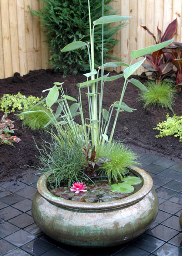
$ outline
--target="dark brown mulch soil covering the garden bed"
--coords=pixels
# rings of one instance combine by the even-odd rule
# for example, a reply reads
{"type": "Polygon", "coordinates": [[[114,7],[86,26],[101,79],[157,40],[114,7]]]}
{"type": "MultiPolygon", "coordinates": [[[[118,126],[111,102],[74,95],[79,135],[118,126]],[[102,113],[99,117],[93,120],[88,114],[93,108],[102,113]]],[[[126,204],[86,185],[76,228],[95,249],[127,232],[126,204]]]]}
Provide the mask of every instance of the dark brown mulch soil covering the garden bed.
{"type": "MultiPolygon", "coordinates": [[[[112,75],[112,73],[111,73],[112,75]]],[[[137,76],[133,76],[139,78],[137,76]]],[[[140,79],[140,78],[139,78],[140,79]]],[[[141,80],[141,79],[140,79],[141,80]]],[[[29,74],[20,77],[17,73],[13,77],[0,80],[0,97],[4,93],[17,94],[19,91],[29,96],[40,97],[45,96],[42,90],[53,86],[54,82],[65,82],[64,87],[67,89],[68,95],[77,98],[78,87],[77,83],[85,81],[83,75],[74,75],[62,77],[61,73],[56,73],[52,69],[30,71],[29,74]]],[[[103,107],[107,108],[114,102],[119,100],[120,92],[123,86],[123,78],[105,84],[105,93],[103,99],[103,107]]],[[[137,111],[133,113],[122,112],[119,115],[114,138],[121,140],[133,149],[138,149],[146,153],[165,157],[177,162],[182,162],[182,144],[178,138],[168,136],[163,138],[155,138],[158,131],[153,130],[157,123],[163,121],[167,112],[159,109],[147,109],[144,111],[142,105],[137,101],[139,89],[132,84],[129,84],[124,95],[123,101],[137,111]]],[[[83,91],[83,93],[86,91],[83,91]]],[[[182,95],[178,92],[174,112],[181,115],[182,95]]],[[[84,111],[87,109],[87,98],[83,97],[84,111]]],[[[0,112],[2,117],[3,112],[0,112]]],[[[36,166],[39,161],[35,158],[38,152],[33,146],[35,138],[38,145],[41,144],[41,135],[39,131],[31,131],[28,128],[22,129],[22,121],[17,119],[13,114],[8,115],[9,119],[15,121],[15,135],[21,138],[19,144],[14,144],[15,147],[0,145],[0,181],[14,180],[29,172],[32,172],[27,165],[36,166]]],[[[46,137],[42,135],[42,137],[46,137]]],[[[34,170],[36,173],[36,170],[34,170]]]]}

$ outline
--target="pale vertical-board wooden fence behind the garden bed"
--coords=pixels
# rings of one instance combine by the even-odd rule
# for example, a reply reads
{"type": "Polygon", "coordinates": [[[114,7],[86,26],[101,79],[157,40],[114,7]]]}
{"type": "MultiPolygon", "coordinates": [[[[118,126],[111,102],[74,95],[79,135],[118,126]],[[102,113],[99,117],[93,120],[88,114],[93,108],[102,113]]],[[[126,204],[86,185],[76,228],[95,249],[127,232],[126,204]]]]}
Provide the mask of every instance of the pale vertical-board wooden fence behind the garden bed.
{"type": "MultiPolygon", "coordinates": [[[[111,5],[118,14],[131,16],[129,25],[116,34],[119,44],[111,55],[129,62],[133,50],[154,44],[153,37],[141,26],[147,26],[157,36],[157,26],[163,33],[176,18],[175,41],[182,41],[181,0],[117,0],[111,5]]],[[[28,6],[39,10],[43,4],[38,0],[0,0],[0,78],[49,68],[45,35],[38,17],[31,16],[28,6]]],[[[137,73],[143,70],[141,67],[137,73]]]]}

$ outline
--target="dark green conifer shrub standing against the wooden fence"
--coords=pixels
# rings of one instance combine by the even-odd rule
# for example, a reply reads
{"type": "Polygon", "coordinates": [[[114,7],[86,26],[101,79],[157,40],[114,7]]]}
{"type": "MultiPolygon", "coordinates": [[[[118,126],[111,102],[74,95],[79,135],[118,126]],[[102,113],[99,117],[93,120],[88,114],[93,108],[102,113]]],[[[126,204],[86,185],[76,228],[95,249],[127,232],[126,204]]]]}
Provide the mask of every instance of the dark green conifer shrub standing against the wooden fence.
{"type": "MultiPolygon", "coordinates": [[[[104,0],[104,14],[115,14],[111,6],[113,0],[104,0]]],[[[39,16],[45,27],[44,33],[47,36],[47,43],[50,49],[50,64],[53,69],[66,73],[86,72],[90,69],[88,51],[86,47],[74,52],[61,52],[61,49],[73,41],[90,40],[88,0],[42,0],[45,8],[39,12],[30,10],[33,15],[39,16]]],[[[90,0],[92,22],[102,16],[102,1],[90,0]]],[[[126,25],[126,23],[123,23],[126,25]]],[[[113,35],[121,28],[104,25],[104,59],[109,58],[109,52],[117,43],[113,35]]],[[[95,65],[101,63],[102,26],[96,26],[94,33],[95,65]]]]}

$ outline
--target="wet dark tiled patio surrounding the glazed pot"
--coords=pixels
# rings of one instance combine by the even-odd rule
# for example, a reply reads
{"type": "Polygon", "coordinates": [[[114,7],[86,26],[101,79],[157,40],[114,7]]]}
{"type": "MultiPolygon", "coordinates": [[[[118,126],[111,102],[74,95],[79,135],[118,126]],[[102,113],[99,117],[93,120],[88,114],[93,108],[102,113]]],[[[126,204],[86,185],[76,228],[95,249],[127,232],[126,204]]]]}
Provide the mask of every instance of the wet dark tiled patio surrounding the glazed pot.
{"type": "Polygon", "coordinates": [[[137,152],[141,167],[153,177],[159,213],[142,236],[129,244],[86,249],[45,236],[31,215],[38,176],[0,183],[0,256],[182,256],[182,164],[137,152]]]}

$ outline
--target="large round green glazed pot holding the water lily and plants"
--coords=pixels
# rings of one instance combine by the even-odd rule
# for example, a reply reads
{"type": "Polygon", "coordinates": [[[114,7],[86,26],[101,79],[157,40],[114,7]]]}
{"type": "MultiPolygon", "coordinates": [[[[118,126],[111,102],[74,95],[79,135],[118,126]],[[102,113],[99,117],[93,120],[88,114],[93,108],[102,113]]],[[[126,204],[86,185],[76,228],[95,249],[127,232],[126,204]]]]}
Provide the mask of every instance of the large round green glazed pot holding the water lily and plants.
{"type": "Polygon", "coordinates": [[[85,203],[66,200],[49,192],[47,177],[37,182],[32,216],[49,237],[79,247],[106,247],[126,243],[140,236],[158,212],[158,198],[147,172],[132,167],[143,180],[135,194],[110,202],[85,203]]]}

